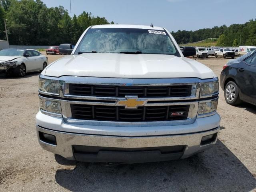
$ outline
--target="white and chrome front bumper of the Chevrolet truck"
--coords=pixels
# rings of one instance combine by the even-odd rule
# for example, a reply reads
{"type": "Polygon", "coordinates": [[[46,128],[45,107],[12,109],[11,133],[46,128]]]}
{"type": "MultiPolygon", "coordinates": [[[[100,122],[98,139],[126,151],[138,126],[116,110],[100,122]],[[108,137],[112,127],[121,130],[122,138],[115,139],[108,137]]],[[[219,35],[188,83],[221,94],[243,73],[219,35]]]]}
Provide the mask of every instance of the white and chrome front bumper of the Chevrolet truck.
{"type": "Polygon", "coordinates": [[[187,158],[213,146],[219,130],[218,114],[197,118],[193,124],[188,125],[151,127],[74,125],[41,112],[36,116],[36,131],[42,148],[69,160],[86,162],[136,163],[187,158]],[[41,140],[39,133],[54,135],[56,144],[41,140]],[[214,140],[202,145],[202,137],[212,134],[215,134],[214,140]],[[100,150],[97,153],[77,151],[74,146],[89,150],[99,147],[100,150]],[[179,150],[162,153],[157,149],[170,146],[179,150]]]}

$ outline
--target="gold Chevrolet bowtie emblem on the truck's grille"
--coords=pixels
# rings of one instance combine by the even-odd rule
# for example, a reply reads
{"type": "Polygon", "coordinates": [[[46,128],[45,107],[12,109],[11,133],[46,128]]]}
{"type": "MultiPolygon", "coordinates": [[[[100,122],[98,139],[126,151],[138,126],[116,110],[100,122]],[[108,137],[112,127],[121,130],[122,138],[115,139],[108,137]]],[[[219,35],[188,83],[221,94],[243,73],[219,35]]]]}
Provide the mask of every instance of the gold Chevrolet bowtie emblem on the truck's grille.
{"type": "Polygon", "coordinates": [[[125,106],[126,109],[136,109],[138,106],[144,106],[148,100],[138,99],[137,96],[125,96],[125,99],[119,99],[116,106],[125,106]]]}

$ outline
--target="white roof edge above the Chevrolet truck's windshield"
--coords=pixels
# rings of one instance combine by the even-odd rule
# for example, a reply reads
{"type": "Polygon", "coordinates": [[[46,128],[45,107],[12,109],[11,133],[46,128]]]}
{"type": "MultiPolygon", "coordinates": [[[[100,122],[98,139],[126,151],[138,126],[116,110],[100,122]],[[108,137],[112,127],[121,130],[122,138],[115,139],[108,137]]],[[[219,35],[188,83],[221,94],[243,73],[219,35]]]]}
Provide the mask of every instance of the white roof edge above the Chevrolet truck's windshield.
{"type": "Polygon", "coordinates": [[[164,30],[162,27],[150,27],[150,25],[123,25],[123,24],[110,24],[110,25],[94,25],[92,29],[97,28],[134,28],[134,29],[148,29],[148,30],[164,30]]]}

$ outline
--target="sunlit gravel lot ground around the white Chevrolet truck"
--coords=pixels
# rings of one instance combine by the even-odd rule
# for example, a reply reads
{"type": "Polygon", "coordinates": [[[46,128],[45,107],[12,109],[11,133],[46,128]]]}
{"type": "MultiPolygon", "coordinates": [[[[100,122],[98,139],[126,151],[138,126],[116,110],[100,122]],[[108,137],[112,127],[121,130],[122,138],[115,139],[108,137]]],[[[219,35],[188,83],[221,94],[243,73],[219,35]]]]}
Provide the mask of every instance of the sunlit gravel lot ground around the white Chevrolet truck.
{"type": "MultiPolygon", "coordinates": [[[[52,62],[59,55],[48,55],[52,62]]],[[[198,59],[219,76],[228,59],[198,59]]],[[[226,104],[217,144],[184,160],[145,164],[71,162],[42,150],[35,131],[38,75],[0,78],[0,192],[256,192],[256,107],[226,104]]]]}

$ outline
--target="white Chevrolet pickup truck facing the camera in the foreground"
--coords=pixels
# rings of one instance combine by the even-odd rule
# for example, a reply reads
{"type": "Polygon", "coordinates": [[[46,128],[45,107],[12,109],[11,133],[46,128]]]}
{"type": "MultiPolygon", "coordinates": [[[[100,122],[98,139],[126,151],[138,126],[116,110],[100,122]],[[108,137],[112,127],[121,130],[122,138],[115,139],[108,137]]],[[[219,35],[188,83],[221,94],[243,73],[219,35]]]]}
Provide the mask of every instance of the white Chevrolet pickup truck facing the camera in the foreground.
{"type": "Polygon", "coordinates": [[[90,26],[40,74],[40,145],[69,160],[121,163],[210,148],[220,130],[218,78],[185,57],[194,54],[162,27],[90,26]]]}

